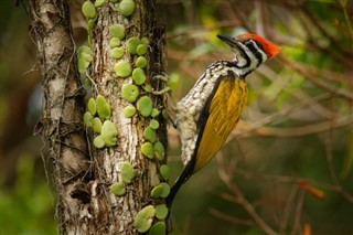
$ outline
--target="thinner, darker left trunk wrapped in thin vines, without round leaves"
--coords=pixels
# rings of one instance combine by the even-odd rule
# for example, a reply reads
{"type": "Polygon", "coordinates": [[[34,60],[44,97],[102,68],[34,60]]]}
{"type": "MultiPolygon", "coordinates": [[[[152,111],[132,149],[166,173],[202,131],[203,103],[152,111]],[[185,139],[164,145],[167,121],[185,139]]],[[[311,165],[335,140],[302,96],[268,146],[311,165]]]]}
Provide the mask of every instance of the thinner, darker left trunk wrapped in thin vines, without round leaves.
{"type": "Polygon", "coordinates": [[[42,133],[49,147],[45,161],[53,161],[56,216],[61,232],[67,234],[77,227],[83,205],[72,193],[77,184],[86,181],[89,167],[82,124],[84,90],[75,67],[75,44],[66,1],[33,0],[28,7],[30,34],[38,49],[45,99],[39,128],[43,125],[42,133]]]}

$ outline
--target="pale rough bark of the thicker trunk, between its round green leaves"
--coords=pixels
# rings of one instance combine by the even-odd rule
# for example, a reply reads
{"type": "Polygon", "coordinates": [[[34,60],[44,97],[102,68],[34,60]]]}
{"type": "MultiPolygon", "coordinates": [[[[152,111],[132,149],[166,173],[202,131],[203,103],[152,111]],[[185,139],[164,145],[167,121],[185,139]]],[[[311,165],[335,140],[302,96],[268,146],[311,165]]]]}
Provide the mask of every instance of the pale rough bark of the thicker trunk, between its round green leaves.
{"type": "MultiPolygon", "coordinates": [[[[94,46],[94,66],[92,79],[94,82],[94,96],[100,94],[108,100],[111,113],[113,122],[117,125],[119,130],[118,146],[115,148],[106,148],[104,150],[93,149],[93,158],[96,168],[95,184],[92,186],[92,204],[97,226],[101,233],[118,234],[136,234],[132,225],[133,217],[138,211],[151,203],[150,191],[160,180],[158,177],[158,165],[162,162],[149,160],[141,153],[141,145],[143,143],[143,129],[149,125],[150,118],[135,116],[126,118],[122,109],[129,105],[121,97],[121,87],[126,83],[132,83],[131,77],[119,78],[115,76],[114,65],[118,62],[110,55],[108,28],[114,23],[124,24],[127,29],[126,39],[138,36],[139,39],[147,36],[150,41],[150,49],[147,55],[147,83],[151,84],[156,89],[161,88],[161,83],[157,81],[152,83],[152,75],[163,71],[162,50],[163,26],[157,22],[153,1],[135,1],[136,10],[129,18],[124,18],[114,10],[114,4],[104,4],[98,8],[98,20],[92,32],[92,42],[94,46]],[[117,197],[109,192],[108,185],[120,181],[119,168],[121,162],[130,162],[137,170],[137,177],[132,184],[127,185],[127,194],[117,197]],[[107,206],[107,209],[105,207],[107,206]],[[106,226],[101,226],[105,224],[106,226]]],[[[125,42],[122,42],[122,46],[125,42]]],[[[136,58],[136,56],[135,56],[136,58]]],[[[133,63],[133,56],[126,53],[121,58],[133,63]]],[[[142,92],[142,88],[140,89],[142,92]]],[[[162,98],[147,94],[153,98],[156,107],[162,106],[162,98]]],[[[165,125],[163,118],[159,118],[161,127],[159,128],[158,138],[167,146],[165,125]]],[[[153,202],[154,204],[157,203],[153,202]]]]}

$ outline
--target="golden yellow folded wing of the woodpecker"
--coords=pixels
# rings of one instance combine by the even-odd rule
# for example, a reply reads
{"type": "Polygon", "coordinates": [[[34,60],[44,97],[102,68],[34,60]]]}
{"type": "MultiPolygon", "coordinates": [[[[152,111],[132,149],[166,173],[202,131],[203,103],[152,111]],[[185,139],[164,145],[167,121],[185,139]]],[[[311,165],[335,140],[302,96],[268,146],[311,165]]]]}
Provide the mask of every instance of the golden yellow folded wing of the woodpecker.
{"type": "MultiPolygon", "coordinates": [[[[222,148],[238,122],[247,97],[246,83],[239,77],[222,77],[210,102],[208,118],[201,127],[193,173],[204,167],[222,148]]],[[[201,117],[202,118],[202,117],[201,117]]]]}

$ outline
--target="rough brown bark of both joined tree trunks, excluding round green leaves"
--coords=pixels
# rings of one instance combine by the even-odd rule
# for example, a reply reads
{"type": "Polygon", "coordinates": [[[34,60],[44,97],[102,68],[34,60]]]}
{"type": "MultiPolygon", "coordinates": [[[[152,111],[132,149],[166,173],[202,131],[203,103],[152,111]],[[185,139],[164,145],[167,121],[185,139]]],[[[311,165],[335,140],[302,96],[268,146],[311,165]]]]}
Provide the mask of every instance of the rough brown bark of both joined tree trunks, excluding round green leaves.
{"type": "Polygon", "coordinates": [[[135,3],[136,9],[129,17],[114,10],[116,6],[109,1],[96,8],[96,23],[88,35],[93,51],[92,67],[87,72],[93,83],[92,94],[94,98],[97,95],[106,98],[111,108],[110,120],[119,131],[116,146],[98,149],[93,145],[97,133],[83,125],[85,93],[76,70],[67,1],[29,1],[30,32],[43,75],[45,107],[41,124],[50,149],[45,158],[53,159],[56,216],[63,234],[138,234],[133,226],[136,214],[148,204],[164,202],[161,197],[152,200],[150,192],[163,181],[158,169],[167,159],[148,159],[141,153],[142,143],[148,141],[143,130],[151,119],[160,124],[156,141],[167,146],[167,128],[161,115],[163,97],[143,90],[145,85],[151,85],[154,90],[163,88],[152,75],[163,72],[164,29],[157,20],[153,1],[136,0],[135,3]],[[118,61],[132,64],[137,56],[125,50],[122,58],[111,57],[109,26],[115,23],[126,28],[122,46],[132,35],[150,41],[146,54],[147,81],[138,87],[140,96],[149,96],[160,111],[154,118],[139,113],[132,118],[124,115],[126,106],[136,106],[121,95],[122,85],[131,84],[132,78],[116,77],[114,65],[118,61]],[[136,177],[131,183],[124,184],[126,194],[117,196],[109,186],[121,182],[122,162],[133,165],[136,177]]]}

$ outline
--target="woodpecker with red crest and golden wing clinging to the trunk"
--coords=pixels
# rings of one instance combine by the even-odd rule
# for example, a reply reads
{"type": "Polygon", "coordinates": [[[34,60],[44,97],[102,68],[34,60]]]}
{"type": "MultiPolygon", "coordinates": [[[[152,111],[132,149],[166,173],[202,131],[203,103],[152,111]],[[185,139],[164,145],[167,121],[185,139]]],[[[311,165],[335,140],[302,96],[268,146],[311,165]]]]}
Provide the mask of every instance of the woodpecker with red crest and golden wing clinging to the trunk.
{"type": "Polygon", "coordinates": [[[253,33],[217,38],[229,45],[235,57],[211,64],[176,104],[174,125],[180,131],[185,168],[167,199],[169,207],[181,185],[220,151],[237,125],[247,99],[245,77],[280,50],[253,33]]]}

